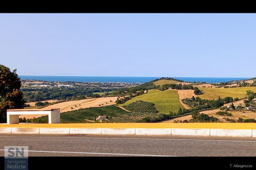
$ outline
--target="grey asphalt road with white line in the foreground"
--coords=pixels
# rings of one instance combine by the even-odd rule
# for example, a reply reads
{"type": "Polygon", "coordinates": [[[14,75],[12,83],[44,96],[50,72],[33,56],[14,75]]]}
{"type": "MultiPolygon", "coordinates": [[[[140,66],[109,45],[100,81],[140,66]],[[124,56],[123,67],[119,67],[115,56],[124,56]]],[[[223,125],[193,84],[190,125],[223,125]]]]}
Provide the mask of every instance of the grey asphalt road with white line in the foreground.
{"type": "Polygon", "coordinates": [[[256,156],[256,138],[1,134],[4,146],[29,156],[256,156]]]}

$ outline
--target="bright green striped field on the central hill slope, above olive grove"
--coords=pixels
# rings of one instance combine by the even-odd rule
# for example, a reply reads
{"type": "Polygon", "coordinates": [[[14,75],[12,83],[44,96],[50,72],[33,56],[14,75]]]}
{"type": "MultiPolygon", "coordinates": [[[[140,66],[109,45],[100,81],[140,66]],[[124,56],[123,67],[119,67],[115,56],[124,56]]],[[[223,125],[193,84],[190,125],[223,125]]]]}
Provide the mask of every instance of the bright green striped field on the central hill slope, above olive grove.
{"type": "Polygon", "coordinates": [[[183,108],[179,102],[177,90],[149,90],[145,95],[134,97],[122,105],[129,105],[137,100],[154,103],[157,110],[162,114],[168,114],[170,111],[177,112],[179,108],[183,108]]]}

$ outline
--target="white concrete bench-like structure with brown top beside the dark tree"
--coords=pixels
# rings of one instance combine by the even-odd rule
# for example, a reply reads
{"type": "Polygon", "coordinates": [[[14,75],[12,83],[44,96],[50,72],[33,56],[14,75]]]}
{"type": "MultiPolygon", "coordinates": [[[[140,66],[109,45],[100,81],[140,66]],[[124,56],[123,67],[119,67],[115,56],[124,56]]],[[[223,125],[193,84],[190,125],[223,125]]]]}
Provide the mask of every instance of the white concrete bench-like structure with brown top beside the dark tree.
{"type": "Polygon", "coordinates": [[[19,115],[48,115],[49,124],[60,123],[60,109],[35,110],[35,109],[8,109],[7,124],[19,124],[19,115]]]}

